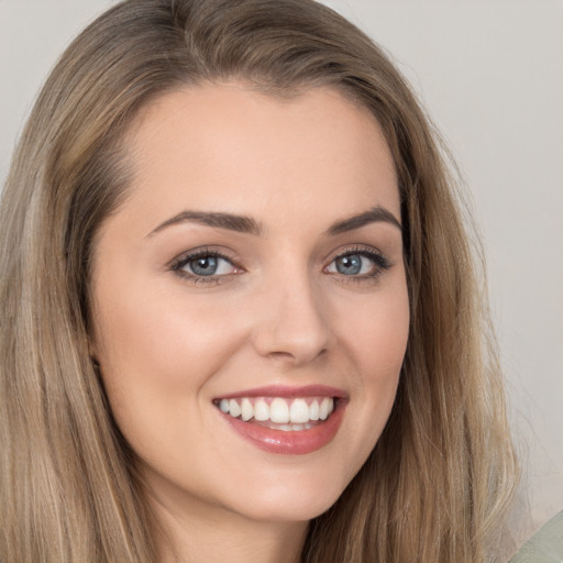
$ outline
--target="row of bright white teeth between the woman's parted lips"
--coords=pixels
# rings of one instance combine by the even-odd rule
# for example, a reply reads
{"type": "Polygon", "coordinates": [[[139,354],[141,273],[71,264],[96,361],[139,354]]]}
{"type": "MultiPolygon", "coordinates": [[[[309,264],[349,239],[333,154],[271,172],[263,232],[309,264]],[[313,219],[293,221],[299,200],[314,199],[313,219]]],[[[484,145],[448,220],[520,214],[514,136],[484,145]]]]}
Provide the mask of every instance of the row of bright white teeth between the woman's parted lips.
{"type": "Polygon", "coordinates": [[[213,404],[233,419],[272,430],[310,430],[334,411],[335,397],[236,397],[216,399],[213,404]]]}

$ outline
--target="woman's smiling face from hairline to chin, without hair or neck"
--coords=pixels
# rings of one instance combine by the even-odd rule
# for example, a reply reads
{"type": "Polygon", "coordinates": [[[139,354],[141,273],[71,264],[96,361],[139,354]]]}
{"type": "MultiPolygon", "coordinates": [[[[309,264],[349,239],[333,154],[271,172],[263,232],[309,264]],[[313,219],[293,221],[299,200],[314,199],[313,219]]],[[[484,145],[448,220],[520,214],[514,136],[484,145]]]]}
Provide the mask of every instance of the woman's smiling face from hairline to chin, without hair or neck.
{"type": "Polygon", "coordinates": [[[391,409],[409,306],[391,157],[331,89],[168,93],[130,135],[102,224],[92,354],[151,495],[305,521],[391,409]]]}

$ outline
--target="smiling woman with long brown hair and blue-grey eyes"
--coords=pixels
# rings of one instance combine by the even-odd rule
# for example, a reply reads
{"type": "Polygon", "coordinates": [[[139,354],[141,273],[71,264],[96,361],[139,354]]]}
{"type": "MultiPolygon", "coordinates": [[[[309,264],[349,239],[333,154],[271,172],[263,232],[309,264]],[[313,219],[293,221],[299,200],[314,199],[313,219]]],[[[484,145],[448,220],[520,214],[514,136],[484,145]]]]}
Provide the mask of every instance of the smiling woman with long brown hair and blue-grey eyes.
{"type": "Polygon", "coordinates": [[[2,196],[0,559],[498,559],[515,461],[451,184],[327,8],[99,18],[2,196]]]}

